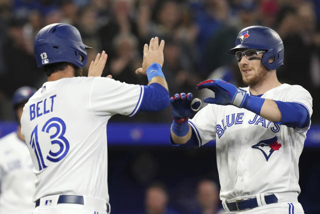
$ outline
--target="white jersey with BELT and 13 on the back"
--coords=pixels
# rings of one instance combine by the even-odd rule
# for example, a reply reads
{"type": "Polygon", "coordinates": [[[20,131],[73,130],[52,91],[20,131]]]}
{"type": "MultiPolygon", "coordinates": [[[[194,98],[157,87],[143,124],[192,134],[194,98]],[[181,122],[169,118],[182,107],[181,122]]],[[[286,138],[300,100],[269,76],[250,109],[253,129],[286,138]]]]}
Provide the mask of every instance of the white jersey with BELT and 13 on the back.
{"type": "Polygon", "coordinates": [[[133,116],[143,87],[102,77],[46,82],[25,104],[21,133],[34,163],[33,201],[55,194],[109,200],[106,124],[133,116]]]}

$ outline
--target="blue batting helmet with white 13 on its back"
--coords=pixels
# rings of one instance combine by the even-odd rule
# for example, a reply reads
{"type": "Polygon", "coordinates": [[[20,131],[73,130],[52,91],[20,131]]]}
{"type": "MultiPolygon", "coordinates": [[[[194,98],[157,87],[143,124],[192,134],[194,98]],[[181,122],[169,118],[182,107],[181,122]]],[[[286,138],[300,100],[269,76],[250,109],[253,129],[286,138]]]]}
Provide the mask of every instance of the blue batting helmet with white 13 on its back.
{"type": "Polygon", "coordinates": [[[86,48],[79,31],[72,25],[55,23],[42,28],[34,40],[38,67],[57,62],[69,62],[83,68],[87,62],[86,48]]]}

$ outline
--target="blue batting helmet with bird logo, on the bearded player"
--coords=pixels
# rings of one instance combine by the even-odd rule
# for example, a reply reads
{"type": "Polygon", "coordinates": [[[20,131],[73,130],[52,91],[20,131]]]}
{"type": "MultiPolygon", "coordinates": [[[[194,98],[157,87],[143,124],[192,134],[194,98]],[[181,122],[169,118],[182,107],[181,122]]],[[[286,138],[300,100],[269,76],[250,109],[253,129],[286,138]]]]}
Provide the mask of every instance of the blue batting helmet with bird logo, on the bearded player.
{"type": "Polygon", "coordinates": [[[251,26],[242,29],[236,39],[235,47],[228,54],[235,54],[239,49],[265,50],[261,63],[268,69],[274,70],[283,65],[284,47],[280,36],[270,28],[263,26],[251,26]],[[269,59],[274,61],[269,63],[269,59]]]}

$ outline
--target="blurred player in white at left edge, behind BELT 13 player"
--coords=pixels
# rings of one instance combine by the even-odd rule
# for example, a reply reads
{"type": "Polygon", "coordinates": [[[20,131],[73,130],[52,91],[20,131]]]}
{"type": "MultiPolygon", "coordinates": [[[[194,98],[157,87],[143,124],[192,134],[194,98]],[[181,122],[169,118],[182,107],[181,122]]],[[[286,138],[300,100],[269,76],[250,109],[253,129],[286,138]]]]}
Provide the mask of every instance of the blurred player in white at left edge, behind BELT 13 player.
{"type": "Polygon", "coordinates": [[[18,121],[17,130],[0,139],[0,214],[29,214],[34,209],[33,163],[19,121],[24,104],[35,91],[23,86],[14,92],[12,103],[18,121]]]}

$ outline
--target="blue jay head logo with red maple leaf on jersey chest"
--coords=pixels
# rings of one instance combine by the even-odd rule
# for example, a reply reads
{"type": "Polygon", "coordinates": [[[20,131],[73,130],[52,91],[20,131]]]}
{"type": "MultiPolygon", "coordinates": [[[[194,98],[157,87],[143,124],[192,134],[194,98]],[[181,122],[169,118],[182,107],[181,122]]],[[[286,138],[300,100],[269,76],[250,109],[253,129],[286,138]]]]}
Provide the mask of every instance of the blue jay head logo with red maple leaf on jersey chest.
{"type": "Polygon", "coordinates": [[[268,161],[271,154],[274,151],[279,150],[281,146],[282,146],[281,143],[277,142],[277,136],[274,136],[270,139],[259,141],[257,144],[254,144],[253,146],[251,146],[251,148],[259,149],[264,155],[266,161],[268,161]]]}

